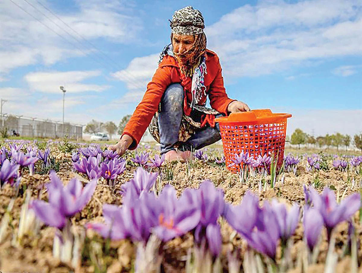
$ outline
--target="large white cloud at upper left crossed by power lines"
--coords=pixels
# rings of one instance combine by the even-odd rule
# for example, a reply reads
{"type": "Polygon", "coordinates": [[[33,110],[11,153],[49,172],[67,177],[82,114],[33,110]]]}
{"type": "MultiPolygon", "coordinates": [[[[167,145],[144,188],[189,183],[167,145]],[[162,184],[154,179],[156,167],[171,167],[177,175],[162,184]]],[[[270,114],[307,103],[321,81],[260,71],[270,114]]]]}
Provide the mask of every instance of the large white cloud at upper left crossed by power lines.
{"type": "MultiPolygon", "coordinates": [[[[40,22],[11,1],[1,1],[0,71],[2,72],[8,73],[21,66],[38,63],[51,65],[66,58],[92,55],[95,49],[82,37],[90,40],[103,38],[117,43],[130,43],[137,39],[142,29],[142,20],[133,15],[135,9],[127,7],[123,2],[79,1],[79,11],[71,15],[52,11],[82,37],[39,3],[30,3],[37,9],[25,1],[16,1],[17,5],[40,22]]],[[[51,2],[45,3],[48,8],[51,8],[51,4],[51,2]]]]}

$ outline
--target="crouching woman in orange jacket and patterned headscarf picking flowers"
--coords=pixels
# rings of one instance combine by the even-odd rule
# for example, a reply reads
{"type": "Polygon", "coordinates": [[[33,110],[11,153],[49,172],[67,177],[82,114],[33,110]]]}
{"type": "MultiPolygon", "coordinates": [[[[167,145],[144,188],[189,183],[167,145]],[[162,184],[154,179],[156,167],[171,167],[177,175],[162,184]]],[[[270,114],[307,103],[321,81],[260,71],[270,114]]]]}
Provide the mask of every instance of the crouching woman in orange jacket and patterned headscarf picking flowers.
{"type": "Polygon", "coordinates": [[[225,92],[219,58],[206,49],[201,12],[189,6],[174,12],[170,22],[171,44],[161,52],[159,67],[121,139],[110,146],[120,155],[135,149],[149,127],[165,159],[184,162],[191,149],[220,140],[215,117],[250,111],[225,92]],[[212,109],[205,107],[206,96],[212,109]]]}

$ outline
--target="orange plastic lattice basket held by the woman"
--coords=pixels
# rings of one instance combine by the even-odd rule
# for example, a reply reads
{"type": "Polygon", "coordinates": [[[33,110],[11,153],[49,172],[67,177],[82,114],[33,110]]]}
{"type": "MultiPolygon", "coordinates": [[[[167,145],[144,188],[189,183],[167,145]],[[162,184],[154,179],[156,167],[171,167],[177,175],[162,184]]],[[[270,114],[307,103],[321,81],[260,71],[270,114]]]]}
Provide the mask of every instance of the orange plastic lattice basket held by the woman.
{"type": "Polygon", "coordinates": [[[278,155],[277,167],[283,164],[287,118],[286,113],[272,113],[270,109],[231,113],[215,119],[220,126],[224,156],[228,170],[236,173],[239,166],[230,166],[235,154],[249,152],[254,159],[258,155],[278,155]]]}

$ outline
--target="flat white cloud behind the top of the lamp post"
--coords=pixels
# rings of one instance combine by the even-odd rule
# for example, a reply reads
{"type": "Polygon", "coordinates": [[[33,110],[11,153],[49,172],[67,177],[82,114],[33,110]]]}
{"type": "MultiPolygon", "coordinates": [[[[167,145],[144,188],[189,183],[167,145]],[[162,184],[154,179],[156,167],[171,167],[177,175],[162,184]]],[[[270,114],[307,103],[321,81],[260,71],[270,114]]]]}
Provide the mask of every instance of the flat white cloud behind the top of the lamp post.
{"type": "Polygon", "coordinates": [[[104,91],[109,86],[80,83],[82,80],[101,75],[101,71],[34,72],[24,76],[31,90],[60,93],[59,86],[67,92],[104,91]]]}

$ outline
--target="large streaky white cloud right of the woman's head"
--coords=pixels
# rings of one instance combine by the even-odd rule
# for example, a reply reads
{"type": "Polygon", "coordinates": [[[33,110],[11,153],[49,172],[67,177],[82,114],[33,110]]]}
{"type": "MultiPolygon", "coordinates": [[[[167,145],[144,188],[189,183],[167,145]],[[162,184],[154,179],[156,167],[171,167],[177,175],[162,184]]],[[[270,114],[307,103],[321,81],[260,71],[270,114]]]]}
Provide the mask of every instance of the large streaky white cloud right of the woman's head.
{"type": "Polygon", "coordinates": [[[264,1],[207,26],[208,47],[226,76],[258,76],[333,57],[361,55],[361,7],[355,1],[264,1]]]}

